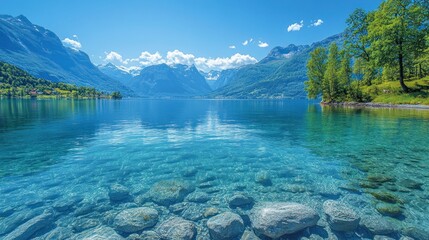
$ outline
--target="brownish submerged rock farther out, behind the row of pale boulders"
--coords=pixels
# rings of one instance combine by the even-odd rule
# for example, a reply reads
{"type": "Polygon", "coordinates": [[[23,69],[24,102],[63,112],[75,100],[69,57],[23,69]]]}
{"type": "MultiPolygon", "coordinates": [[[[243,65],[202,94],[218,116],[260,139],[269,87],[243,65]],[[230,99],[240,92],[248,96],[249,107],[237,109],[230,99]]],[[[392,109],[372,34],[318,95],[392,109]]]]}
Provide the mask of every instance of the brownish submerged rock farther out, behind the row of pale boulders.
{"type": "Polygon", "coordinates": [[[155,203],[168,206],[183,201],[194,189],[185,181],[165,180],[155,183],[148,194],[155,203]]]}

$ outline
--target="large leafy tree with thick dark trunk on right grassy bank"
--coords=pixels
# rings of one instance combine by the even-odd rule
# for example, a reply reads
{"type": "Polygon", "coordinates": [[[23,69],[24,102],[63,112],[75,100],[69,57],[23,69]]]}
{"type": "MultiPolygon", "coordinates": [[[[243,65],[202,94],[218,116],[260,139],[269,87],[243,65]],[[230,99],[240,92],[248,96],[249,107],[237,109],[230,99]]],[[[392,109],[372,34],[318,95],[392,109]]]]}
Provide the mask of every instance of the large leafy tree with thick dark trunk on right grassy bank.
{"type": "Polygon", "coordinates": [[[379,66],[397,67],[402,90],[405,85],[405,65],[412,62],[425,48],[427,29],[425,11],[412,0],[387,0],[375,11],[368,25],[371,57],[379,66]]]}

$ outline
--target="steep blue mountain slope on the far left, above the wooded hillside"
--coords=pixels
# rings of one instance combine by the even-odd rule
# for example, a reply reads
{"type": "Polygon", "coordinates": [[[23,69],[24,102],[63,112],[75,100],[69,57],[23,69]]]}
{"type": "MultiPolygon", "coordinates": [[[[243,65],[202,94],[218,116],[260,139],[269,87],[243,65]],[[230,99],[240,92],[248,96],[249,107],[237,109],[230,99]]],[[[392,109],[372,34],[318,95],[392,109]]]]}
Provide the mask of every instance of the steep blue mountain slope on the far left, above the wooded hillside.
{"type": "Polygon", "coordinates": [[[0,15],[0,43],[0,61],[35,77],[132,94],[123,84],[103,74],[86,53],[64,47],[55,33],[32,24],[22,15],[0,15]]]}

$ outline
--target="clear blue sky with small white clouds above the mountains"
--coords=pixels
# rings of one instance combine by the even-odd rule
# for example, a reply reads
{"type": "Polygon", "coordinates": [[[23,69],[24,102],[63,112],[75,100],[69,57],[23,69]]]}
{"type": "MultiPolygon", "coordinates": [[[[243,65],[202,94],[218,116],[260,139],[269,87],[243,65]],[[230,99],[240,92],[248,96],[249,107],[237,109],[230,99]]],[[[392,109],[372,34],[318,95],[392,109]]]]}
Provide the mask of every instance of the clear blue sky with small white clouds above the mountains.
{"type": "Polygon", "coordinates": [[[95,64],[196,63],[210,70],[260,60],[275,46],[320,41],[343,31],[355,8],[374,10],[381,2],[0,0],[0,13],[23,14],[68,38],[66,45],[85,51],[95,64]]]}

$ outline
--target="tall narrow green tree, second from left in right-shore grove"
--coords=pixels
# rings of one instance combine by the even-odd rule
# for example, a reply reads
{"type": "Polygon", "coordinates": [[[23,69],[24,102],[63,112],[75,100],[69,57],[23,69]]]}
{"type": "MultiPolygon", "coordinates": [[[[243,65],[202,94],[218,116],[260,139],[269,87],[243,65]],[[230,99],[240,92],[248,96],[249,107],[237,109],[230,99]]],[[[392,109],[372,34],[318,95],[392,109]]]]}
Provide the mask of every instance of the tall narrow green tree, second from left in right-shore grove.
{"type": "Polygon", "coordinates": [[[322,82],[322,100],[324,102],[333,102],[339,100],[339,72],[341,65],[338,45],[332,43],[329,46],[328,62],[322,82]]]}

